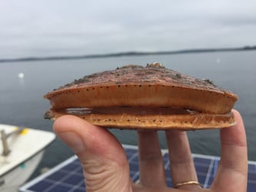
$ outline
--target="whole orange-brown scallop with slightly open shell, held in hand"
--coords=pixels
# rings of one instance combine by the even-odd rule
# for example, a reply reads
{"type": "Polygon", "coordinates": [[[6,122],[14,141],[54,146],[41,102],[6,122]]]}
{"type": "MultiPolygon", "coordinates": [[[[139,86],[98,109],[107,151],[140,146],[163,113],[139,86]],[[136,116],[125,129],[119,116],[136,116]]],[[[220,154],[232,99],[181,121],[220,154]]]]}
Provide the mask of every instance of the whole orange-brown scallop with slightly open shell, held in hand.
{"type": "Polygon", "coordinates": [[[230,127],[238,96],[165,68],[125,65],[87,75],[44,96],[45,118],[73,114],[91,124],[119,129],[198,130],[230,127]]]}

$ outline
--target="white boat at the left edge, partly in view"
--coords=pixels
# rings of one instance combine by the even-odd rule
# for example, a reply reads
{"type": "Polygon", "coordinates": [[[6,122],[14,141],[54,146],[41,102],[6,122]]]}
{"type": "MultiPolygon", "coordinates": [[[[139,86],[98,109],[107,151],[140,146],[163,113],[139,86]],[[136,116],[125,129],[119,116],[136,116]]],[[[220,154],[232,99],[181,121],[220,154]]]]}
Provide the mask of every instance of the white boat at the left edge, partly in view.
{"type": "Polygon", "coordinates": [[[38,167],[55,134],[9,124],[0,124],[0,133],[0,191],[17,191],[38,167]]]}

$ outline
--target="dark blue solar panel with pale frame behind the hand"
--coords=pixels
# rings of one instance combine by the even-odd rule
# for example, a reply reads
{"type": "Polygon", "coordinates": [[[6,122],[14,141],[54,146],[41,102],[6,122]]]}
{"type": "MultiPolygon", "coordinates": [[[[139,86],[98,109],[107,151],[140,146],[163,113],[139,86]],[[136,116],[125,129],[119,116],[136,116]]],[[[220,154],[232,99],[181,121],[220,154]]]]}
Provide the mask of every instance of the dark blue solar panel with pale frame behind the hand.
{"type": "MultiPolygon", "coordinates": [[[[130,164],[130,175],[134,182],[139,180],[138,147],[123,145],[130,164]]],[[[171,184],[170,162],[168,151],[163,150],[163,161],[166,171],[166,179],[169,187],[171,184]]],[[[198,181],[202,187],[209,187],[216,174],[219,157],[193,154],[194,166],[198,174],[198,181]]],[[[248,162],[248,192],[256,189],[256,162],[248,162]]],[[[86,191],[84,176],[80,161],[76,156],[49,170],[47,173],[36,177],[20,187],[21,192],[81,192],[86,191]]]]}

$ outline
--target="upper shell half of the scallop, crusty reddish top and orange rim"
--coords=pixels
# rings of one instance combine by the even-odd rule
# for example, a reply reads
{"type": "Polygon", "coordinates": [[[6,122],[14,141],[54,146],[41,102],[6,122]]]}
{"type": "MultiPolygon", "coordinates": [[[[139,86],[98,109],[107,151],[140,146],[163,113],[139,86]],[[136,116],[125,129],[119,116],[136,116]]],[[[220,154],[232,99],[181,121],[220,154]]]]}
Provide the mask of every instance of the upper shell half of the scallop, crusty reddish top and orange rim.
{"type": "Polygon", "coordinates": [[[45,94],[52,109],[98,107],[172,107],[226,114],[238,97],[209,80],[154,63],[126,65],[85,76],[45,94]]]}

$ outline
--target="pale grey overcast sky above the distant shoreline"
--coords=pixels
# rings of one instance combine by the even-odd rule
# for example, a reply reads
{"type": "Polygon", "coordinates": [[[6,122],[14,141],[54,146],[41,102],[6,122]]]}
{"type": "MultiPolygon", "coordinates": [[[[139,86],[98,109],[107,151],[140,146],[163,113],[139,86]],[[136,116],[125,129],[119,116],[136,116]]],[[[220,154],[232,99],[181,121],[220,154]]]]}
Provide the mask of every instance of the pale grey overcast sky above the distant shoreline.
{"type": "Polygon", "coordinates": [[[256,45],[255,0],[0,0],[0,58],[256,45]]]}

